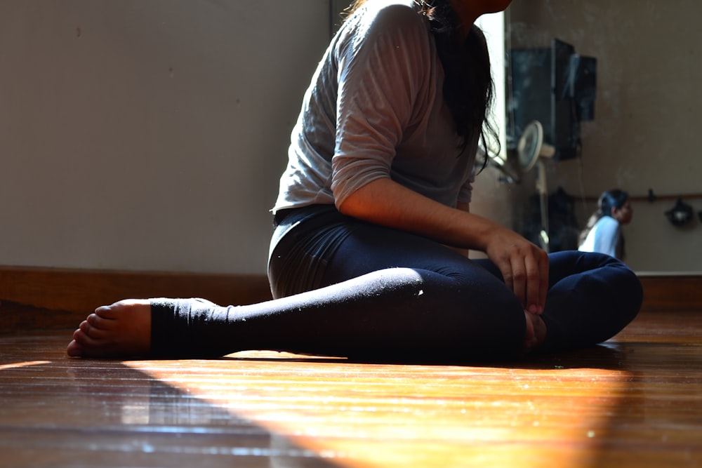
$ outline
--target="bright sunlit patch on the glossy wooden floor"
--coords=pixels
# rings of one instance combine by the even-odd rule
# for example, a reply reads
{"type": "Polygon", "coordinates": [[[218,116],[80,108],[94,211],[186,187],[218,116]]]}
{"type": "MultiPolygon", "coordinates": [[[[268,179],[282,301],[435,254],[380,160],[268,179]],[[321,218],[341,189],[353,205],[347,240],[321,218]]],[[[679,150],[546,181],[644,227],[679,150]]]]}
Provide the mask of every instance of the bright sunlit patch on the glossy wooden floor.
{"type": "Polygon", "coordinates": [[[126,364],[348,467],[592,466],[631,377],[590,368],[187,363],[126,364]]]}

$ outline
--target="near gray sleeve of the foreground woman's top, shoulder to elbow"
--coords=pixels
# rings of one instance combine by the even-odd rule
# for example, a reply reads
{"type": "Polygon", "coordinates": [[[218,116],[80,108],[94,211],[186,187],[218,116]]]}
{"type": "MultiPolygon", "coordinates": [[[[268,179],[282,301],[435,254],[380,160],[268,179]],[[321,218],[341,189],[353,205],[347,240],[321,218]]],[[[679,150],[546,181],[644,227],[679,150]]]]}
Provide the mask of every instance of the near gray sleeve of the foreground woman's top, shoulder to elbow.
{"type": "Polygon", "coordinates": [[[390,178],[392,162],[430,92],[432,50],[424,20],[401,5],[359,25],[338,48],[336,149],[331,189],[337,206],[372,180],[390,178]]]}

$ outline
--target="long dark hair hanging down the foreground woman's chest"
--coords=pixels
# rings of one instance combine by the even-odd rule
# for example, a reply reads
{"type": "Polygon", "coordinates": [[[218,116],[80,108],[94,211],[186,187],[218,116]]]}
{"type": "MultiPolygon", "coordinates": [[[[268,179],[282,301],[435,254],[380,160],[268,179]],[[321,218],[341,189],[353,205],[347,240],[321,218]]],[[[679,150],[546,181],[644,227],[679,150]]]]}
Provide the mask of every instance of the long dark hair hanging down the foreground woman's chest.
{"type": "MultiPolygon", "coordinates": [[[[355,0],[348,8],[349,13],[366,1],[355,0]]],[[[463,40],[461,21],[449,0],[417,0],[417,3],[419,13],[428,19],[435,37],[439,60],[444,67],[444,100],[456,122],[456,133],[461,136],[461,149],[477,136],[486,152],[499,153],[500,140],[488,119],[495,88],[483,32],[472,25],[463,40]]],[[[487,155],[483,167],[486,163],[487,155]]]]}

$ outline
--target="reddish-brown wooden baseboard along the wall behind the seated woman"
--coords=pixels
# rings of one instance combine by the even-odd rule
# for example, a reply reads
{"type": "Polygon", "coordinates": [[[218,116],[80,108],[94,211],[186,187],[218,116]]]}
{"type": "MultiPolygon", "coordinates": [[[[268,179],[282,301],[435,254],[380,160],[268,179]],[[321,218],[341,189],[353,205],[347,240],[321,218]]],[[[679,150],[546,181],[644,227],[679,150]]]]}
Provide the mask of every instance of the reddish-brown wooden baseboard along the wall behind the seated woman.
{"type": "MultiPolygon", "coordinates": [[[[642,309],[702,311],[702,275],[640,279],[642,309]]],[[[0,333],[76,326],[95,307],[140,297],[204,297],[244,305],[270,300],[271,294],[264,275],[0,267],[0,333]]]]}

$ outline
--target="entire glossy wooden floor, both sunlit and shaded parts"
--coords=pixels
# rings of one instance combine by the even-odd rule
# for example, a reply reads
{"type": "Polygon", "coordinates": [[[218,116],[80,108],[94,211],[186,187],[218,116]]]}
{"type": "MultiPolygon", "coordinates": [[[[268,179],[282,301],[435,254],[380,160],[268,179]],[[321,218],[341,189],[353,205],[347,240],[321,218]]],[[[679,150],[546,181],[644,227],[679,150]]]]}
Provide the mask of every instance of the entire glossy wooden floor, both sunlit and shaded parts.
{"type": "Polygon", "coordinates": [[[93,361],[0,335],[2,467],[698,467],[702,311],[507,366],[93,361]]]}

